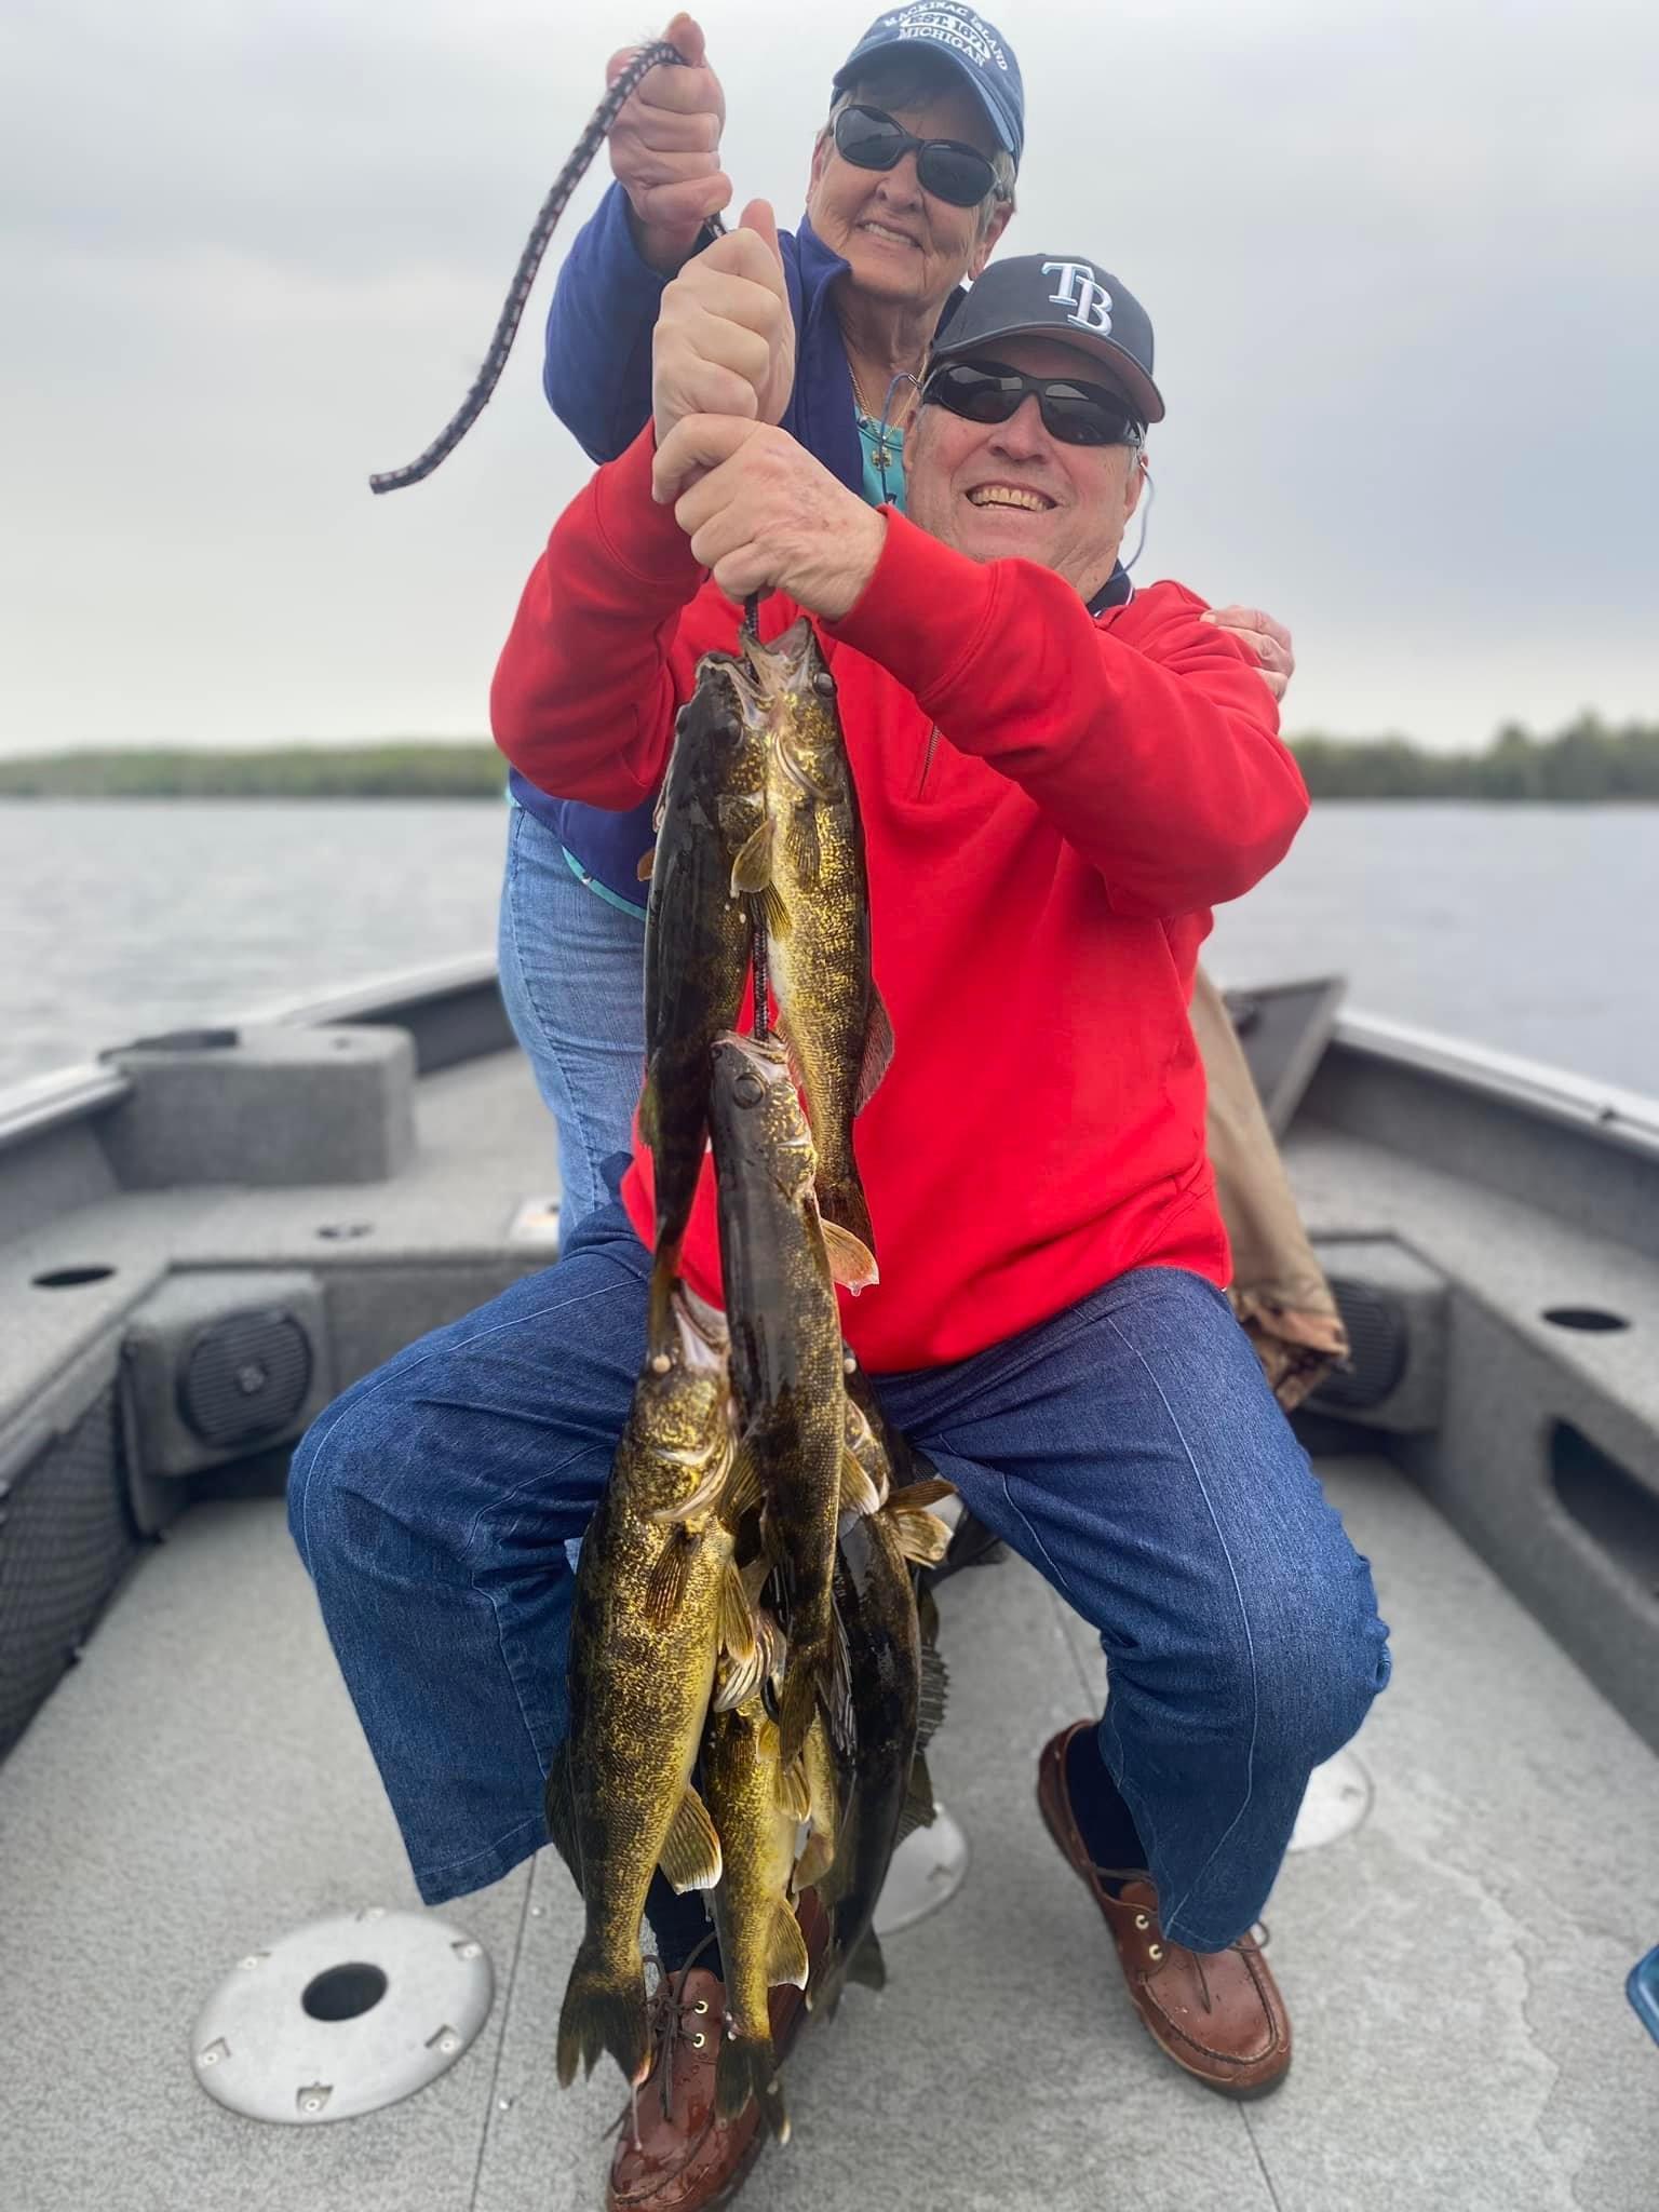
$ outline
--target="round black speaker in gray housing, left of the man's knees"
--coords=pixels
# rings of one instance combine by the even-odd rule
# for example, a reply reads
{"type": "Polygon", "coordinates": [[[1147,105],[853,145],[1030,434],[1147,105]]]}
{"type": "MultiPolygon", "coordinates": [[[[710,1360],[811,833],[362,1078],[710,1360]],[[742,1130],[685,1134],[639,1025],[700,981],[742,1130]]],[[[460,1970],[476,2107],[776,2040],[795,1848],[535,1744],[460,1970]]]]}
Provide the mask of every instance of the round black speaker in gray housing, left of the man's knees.
{"type": "Polygon", "coordinates": [[[157,1480],[288,1444],[330,1396],[327,1316],[314,1274],[173,1276],[133,1314],[122,1345],[139,1524],[157,1524],[155,1502],[144,1511],[157,1480]]]}

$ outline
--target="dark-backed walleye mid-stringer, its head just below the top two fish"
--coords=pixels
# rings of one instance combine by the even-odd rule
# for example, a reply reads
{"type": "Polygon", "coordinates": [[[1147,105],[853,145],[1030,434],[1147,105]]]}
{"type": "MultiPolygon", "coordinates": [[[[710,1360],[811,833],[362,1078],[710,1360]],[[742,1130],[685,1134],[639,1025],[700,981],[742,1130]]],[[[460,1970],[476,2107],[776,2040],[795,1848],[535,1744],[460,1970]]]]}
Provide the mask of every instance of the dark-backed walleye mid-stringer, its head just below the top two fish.
{"type": "Polygon", "coordinates": [[[765,1553],[785,1597],[779,1730],[783,1763],[794,1765],[814,1701],[832,1694],[838,1672],[836,1517],[843,1502],[867,1511],[878,1498],[845,1444],[841,1316],[812,1194],[816,1159],[783,1046],[721,1037],[708,1115],[741,1427],[732,1491],[759,1491],[765,1553]]]}

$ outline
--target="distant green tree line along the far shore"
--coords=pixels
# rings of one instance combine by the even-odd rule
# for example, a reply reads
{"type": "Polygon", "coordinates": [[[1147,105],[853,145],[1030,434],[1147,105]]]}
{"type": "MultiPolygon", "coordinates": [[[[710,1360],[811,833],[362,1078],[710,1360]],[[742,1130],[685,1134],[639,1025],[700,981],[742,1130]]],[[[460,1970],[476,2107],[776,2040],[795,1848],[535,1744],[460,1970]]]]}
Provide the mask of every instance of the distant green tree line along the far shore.
{"type": "MultiPolygon", "coordinates": [[[[1290,743],[1314,799],[1659,801],[1659,723],[1579,714],[1555,737],[1504,723],[1484,752],[1405,737],[1290,743]]],[[[504,779],[500,752],[471,739],[0,757],[0,799],[500,799],[504,779]]]]}

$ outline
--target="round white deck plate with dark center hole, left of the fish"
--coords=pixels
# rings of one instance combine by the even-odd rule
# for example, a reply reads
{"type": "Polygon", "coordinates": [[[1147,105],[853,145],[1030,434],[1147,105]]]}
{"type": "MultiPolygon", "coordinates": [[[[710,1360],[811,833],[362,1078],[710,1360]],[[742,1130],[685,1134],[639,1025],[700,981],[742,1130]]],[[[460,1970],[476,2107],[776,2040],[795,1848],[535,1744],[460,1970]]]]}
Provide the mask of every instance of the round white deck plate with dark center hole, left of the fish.
{"type": "Polygon", "coordinates": [[[445,1920],[378,1905],[312,1920],[250,1951],[208,1997],[195,2077],[248,2119],[376,2112],[447,2073],[493,1995],[489,1953],[445,1920]]]}

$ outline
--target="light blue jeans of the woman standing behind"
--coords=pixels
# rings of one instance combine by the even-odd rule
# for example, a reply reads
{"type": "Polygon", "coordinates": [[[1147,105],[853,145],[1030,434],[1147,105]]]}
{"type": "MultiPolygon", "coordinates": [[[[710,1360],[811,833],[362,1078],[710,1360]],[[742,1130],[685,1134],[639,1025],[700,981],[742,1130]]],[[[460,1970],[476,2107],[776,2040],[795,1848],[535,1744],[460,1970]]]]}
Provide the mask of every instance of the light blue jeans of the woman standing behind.
{"type": "Polygon", "coordinates": [[[513,801],[498,927],[502,1000],[560,1139],[562,1225],[604,1206],[646,1064],[646,922],[591,891],[513,801]]]}

